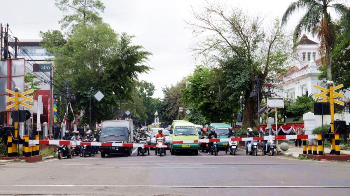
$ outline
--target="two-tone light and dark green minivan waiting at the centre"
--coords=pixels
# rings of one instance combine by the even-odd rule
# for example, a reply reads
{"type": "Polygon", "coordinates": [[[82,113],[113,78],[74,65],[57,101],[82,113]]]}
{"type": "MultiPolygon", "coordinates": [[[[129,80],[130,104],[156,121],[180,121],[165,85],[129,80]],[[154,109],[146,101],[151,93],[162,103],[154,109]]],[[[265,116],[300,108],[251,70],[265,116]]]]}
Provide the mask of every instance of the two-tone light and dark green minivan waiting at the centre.
{"type": "Polygon", "coordinates": [[[189,121],[174,120],[170,128],[170,153],[193,152],[198,155],[198,143],[173,143],[173,141],[194,141],[198,140],[198,130],[189,121]]]}

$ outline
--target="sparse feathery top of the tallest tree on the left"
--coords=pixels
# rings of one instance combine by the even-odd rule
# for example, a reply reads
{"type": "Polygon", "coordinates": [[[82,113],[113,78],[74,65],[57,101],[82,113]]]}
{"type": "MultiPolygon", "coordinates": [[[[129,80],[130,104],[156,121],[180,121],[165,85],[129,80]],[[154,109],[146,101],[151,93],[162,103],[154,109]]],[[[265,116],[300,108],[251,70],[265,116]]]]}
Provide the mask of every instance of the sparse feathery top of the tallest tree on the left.
{"type": "Polygon", "coordinates": [[[62,12],[73,11],[71,15],[64,15],[63,19],[59,21],[61,28],[64,29],[74,23],[94,24],[101,23],[102,18],[99,17],[99,12],[106,8],[99,0],[55,0],[55,6],[62,12]]]}

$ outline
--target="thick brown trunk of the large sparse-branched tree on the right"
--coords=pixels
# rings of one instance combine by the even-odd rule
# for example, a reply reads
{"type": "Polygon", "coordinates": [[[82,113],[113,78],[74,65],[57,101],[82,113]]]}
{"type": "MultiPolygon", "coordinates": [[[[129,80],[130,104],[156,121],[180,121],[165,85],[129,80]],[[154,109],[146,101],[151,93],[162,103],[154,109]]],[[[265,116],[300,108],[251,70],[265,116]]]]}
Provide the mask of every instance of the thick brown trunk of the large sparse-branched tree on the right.
{"type": "Polygon", "coordinates": [[[245,104],[242,116],[242,128],[253,128],[258,118],[258,97],[250,97],[250,91],[245,93],[245,104]]]}

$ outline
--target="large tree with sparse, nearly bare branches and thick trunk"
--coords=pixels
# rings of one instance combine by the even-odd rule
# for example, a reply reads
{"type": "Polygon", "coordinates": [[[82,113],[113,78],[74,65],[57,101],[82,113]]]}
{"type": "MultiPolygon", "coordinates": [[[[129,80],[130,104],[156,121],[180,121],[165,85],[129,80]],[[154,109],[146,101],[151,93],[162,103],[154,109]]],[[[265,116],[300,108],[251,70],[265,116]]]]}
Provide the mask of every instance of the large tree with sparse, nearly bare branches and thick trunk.
{"type": "MultiPolygon", "coordinates": [[[[236,82],[243,83],[246,88],[236,88],[240,92],[237,99],[244,104],[243,126],[255,125],[257,97],[250,97],[253,78],[258,76],[265,83],[285,71],[291,48],[289,38],[278,20],[272,27],[264,28],[261,16],[220,4],[207,5],[202,10],[193,9],[193,15],[196,21],[188,24],[198,38],[194,50],[205,57],[206,63],[220,66],[223,64],[220,62],[233,56],[244,61],[240,72],[246,75],[242,81],[236,82]]],[[[240,72],[236,71],[232,77],[240,77],[240,72]]]]}

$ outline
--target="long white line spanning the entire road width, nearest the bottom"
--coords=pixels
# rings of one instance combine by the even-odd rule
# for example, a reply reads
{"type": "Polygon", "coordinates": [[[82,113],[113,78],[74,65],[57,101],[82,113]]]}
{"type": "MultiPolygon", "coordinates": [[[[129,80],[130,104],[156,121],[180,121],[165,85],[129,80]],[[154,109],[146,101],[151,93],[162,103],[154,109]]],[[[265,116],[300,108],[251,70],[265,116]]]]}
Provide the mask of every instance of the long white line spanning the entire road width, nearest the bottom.
{"type": "Polygon", "coordinates": [[[0,184],[1,187],[168,187],[168,188],[350,188],[350,186],[176,186],[176,185],[75,185],[75,184],[0,184]]]}

